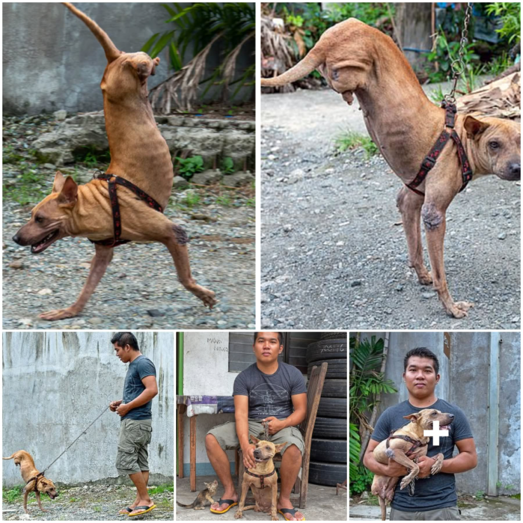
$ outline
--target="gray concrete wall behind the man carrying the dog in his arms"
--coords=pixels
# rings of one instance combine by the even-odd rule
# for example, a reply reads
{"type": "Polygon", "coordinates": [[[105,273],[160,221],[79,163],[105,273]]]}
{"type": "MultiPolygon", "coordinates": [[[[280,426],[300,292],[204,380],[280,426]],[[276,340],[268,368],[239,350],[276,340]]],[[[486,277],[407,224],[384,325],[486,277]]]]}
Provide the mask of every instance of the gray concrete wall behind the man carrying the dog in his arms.
{"type": "MultiPolygon", "coordinates": [[[[361,333],[362,339],[385,337],[384,332],[361,333]]],[[[458,405],[471,425],[478,456],[477,467],[456,474],[461,492],[486,492],[488,477],[488,391],[491,372],[499,372],[497,416],[498,494],[520,491],[521,437],[521,345],[520,333],[502,332],[497,368],[490,366],[491,333],[452,332],[448,354],[444,352],[442,332],[391,332],[385,378],[391,379],[399,392],[382,396],[379,414],[385,408],[405,401],[408,392],[402,379],[403,358],[414,347],[427,347],[438,357],[441,374],[436,396],[458,405]]],[[[457,454],[457,451],[455,452],[457,454]]]]}

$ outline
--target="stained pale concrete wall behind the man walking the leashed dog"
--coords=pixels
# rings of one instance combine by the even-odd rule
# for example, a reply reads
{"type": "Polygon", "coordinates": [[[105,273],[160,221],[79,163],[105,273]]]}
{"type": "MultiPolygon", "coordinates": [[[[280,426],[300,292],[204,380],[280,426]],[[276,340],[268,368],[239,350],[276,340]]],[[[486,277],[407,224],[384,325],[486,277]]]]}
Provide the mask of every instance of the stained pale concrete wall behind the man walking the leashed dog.
{"type": "MultiPolygon", "coordinates": [[[[111,332],[3,334],[2,452],[27,450],[39,469],[58,457],[113,400],[122,397],[128,365],[116,358],[111,332]]],[[[149,446],[150,483],[174,473],[174,335],[136,333],[156,367],[149,446]]],[[[59,484],[121,483],[115,468],[120,418],[109,410],[49,469],[59,484]]],[[[22,483],[3,461],[4,486],[22,483]]],[[[126,476],[127,481],[129,481],[126,476]]]]}

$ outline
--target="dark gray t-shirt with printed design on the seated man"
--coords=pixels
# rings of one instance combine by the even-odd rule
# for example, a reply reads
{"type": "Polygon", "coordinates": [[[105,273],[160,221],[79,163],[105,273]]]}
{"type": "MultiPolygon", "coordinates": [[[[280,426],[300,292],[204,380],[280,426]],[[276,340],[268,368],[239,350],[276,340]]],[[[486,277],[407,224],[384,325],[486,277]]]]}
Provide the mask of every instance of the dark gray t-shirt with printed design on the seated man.
{"type": "Polygon", "coordinates": [[[253,363],[236,376],[233,386],[233,396],[249,397],[249,419],[256,420],[289,417],[294,411],[291,396],[306,392],[303,374],[282,362],[274,374],[264,374],[253,363]]]}

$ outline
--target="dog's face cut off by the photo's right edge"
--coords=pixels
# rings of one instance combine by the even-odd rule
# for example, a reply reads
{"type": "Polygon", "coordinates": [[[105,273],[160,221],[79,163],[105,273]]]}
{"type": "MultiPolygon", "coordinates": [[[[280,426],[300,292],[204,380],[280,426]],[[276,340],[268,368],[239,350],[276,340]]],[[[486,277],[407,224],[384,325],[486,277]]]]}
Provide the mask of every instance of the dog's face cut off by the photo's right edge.
{"type": "Polygon", "coordinates": [[[521,179],[521,128],[512,120],[467,116],[463,123],[473,140],[474,157],[485,174],[504,180],[521,179]]]}

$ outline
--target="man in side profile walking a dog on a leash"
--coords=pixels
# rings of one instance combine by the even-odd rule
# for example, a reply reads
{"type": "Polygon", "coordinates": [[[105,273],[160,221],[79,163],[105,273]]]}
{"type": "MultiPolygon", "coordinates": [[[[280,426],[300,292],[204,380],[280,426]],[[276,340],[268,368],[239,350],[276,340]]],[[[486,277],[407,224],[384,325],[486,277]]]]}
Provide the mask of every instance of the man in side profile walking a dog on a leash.
{"type": "Polygon", "coordinates": [[[120,514],[140,516],[156,505],[147,492],[149,454],[152,434],[152,399],[158,394],[154,363],[140,352],[138,340],[130,332],[118,332],[111,338],[116,356],[129,363],[123,385],[123,400],[112,401],[109,408],[121,418],[116,468],[129,475],[137,489],[134,502],[120,514]]]}

